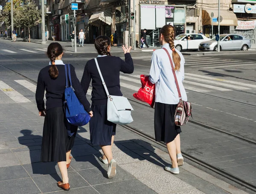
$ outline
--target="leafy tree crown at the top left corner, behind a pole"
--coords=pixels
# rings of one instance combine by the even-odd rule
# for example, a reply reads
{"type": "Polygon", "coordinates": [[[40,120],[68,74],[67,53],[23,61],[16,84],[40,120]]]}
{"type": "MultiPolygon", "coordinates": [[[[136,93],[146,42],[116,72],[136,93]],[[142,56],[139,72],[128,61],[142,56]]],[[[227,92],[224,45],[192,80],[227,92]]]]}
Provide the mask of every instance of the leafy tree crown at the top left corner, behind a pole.
{"type": "MultiPolygon", "coordinates": [[[[13,25],[19,26],[17,21],[18,13],[22,9],[22,0],[13,0],[13,25]]],[[[5,23],[6,26],[11,25],[11,2],[6,3],[3,8],[3,14],[0,16],[0,20],[5,23]]]]}

